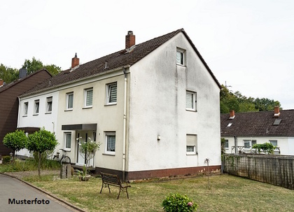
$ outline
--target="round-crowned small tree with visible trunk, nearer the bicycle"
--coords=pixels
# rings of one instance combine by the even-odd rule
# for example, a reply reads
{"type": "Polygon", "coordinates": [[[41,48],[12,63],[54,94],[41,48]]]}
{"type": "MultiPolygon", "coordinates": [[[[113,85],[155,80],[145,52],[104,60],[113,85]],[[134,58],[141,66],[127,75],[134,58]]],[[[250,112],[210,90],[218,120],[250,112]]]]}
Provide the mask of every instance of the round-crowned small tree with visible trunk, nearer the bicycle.
{"type": "Polygon", "coordinates": [[[38,153],[38,176],[41,176],[41,154],[47,150],[54,150],[57,144],[55,134],[45,130],[45,128],[29,135],[27,149],[38,153]]]}

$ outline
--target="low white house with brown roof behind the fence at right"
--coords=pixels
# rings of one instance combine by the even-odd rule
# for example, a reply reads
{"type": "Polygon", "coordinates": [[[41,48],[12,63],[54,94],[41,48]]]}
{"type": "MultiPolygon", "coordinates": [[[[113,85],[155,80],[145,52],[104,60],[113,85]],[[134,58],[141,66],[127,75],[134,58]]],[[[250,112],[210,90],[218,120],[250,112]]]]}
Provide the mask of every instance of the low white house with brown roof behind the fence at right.
{"type": "Polygon", "coordinates": [[[252,153],[255,143],[272,143],[274,154],[294,155],[294,110],[221,114],[226,153],[252,153]]]}

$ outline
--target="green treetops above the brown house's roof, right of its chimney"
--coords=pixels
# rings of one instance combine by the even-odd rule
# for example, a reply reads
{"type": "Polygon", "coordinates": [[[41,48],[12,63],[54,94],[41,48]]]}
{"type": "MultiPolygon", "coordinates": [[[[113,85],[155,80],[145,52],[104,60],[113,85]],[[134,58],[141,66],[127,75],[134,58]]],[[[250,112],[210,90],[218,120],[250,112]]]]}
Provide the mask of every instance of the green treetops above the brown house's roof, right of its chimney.
{"type": "Polygon", "coordinates": [[[55,64],[43,65],[43,62],[39,59],[37,60],[35,57],[31,60],[25,59],[25,63],[22,65],[22,68],[27,69],[27,74],[34,73],[40,69],[47,69],[52,76],[57,75],[57,73],[61,71],[59,66],[56,66],[55,64]]]}

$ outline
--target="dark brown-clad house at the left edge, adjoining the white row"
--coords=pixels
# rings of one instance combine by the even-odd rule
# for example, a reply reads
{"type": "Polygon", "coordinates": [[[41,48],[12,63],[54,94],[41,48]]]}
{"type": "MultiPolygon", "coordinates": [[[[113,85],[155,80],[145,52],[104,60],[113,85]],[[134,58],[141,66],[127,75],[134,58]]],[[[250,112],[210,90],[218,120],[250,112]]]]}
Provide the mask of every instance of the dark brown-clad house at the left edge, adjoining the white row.
{"type": "MultiPolygon", "coordinates": [[[[3,137],[9,132],[15,132],[18,124],[18,96],[31,89],[38,83],[51,78],[45,69],[27,76],[26,69],[20,69],[20,78],[5,85],[0,80],[0,155],[9,155],[11,149],[3,145],[3,137]]],[[[34,129],[27,129],[30,132],[34,129]]]]}

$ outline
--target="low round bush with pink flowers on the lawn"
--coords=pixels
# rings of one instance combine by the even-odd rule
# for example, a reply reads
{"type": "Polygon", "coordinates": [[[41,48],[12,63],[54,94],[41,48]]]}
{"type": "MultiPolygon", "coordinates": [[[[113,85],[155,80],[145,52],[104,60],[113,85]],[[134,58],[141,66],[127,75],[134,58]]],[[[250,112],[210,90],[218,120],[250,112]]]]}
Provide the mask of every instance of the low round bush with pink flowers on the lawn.
{"type": "Polygon", "coordinates": [[[176,211],[196,211],[197,204],[193,203],[193,200],[188,198],[187,195],[169,194],[162,201],[163,209],[167,212],[176,211]]]}

